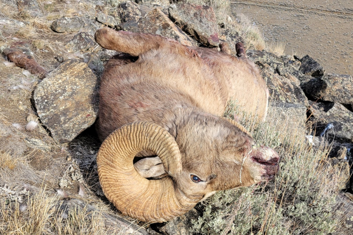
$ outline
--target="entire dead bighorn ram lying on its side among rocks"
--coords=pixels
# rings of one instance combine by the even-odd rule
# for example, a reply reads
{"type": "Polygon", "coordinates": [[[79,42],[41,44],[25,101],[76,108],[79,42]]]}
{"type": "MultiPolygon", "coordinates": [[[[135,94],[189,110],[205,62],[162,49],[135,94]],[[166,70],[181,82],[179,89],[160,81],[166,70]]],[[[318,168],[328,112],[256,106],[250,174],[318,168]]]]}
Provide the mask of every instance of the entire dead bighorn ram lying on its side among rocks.
{"type": "Polygon", "coordinates": [[[95,39],[125,53],[105,67],[97,123],[100,183],[123,214],[168,221],[216,191],[274,177],[278,154],[221,117],[231,97],[259,116],[267,111],[267,87],[241,44],[233,57],[108,28],[95,39]],[[133,165],[136,155],[158,157],[133,165]]]}

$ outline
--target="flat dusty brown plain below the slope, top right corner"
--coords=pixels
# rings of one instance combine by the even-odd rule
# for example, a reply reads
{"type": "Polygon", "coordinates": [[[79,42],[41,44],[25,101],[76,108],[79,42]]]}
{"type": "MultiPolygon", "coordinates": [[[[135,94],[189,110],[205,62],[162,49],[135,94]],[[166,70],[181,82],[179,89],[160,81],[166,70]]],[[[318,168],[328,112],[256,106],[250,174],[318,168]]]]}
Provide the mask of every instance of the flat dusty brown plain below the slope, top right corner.
{"type": "Polygon", "coordinates": [[[327,72],[353,74],[351,0],[240,0],[232,11],[249,17],[269,43],[283,40],[286,54],[309,54],[327,72]]]}

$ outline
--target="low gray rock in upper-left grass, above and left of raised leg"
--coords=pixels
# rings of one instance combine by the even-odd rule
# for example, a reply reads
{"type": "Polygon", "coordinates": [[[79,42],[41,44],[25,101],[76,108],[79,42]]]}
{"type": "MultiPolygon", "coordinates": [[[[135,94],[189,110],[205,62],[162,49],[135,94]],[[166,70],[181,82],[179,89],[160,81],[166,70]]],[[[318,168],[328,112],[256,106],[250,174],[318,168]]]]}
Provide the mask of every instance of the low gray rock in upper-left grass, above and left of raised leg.
{"type": "Polygon", "coordinates": [[[96,30],[98,27],[94,25],[90,19],[84,17],[60,18],[52,23],[52,30],[58,33],[62,32],[78,32],[80,29],[96,30]]]}

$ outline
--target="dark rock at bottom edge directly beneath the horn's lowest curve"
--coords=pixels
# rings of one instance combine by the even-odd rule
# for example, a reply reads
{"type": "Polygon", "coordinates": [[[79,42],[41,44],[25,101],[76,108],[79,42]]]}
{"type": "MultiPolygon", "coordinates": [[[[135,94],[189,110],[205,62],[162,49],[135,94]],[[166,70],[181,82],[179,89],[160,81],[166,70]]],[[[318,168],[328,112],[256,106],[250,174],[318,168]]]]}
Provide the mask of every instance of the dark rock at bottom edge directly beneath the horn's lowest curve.
{"type": "Polygon", "coordinates": [[[168,221],[167,223],[159,224],[157,227],[163,232],[163,234],[189,235],[191,234],[190,228],[193,225],[191,220],[197,220],[198,216],[197,211],[193,208],[185,215],[175,218],[172,221],[168,221]]]}

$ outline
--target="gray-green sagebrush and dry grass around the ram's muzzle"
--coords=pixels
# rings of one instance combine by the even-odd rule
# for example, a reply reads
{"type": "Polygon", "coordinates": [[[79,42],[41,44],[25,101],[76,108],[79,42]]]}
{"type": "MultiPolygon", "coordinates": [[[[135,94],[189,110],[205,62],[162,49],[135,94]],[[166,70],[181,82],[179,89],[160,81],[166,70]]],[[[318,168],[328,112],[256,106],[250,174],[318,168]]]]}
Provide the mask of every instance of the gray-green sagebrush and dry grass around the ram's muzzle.
{"type": "MultiPolygon", "coordinates": [[[[230,104],[228,117],[234,113],[234,103],[230,104]]],[[[242,120],[258,143],[279,153],[280,172],[275,181],[219,192],[203,202],[199,209],[204,212],[194,221],[193,232],[317,235],[336,231],[344,219],[342,211],[335,210],[336,197],[347,179],[340,167],[329,163],[330,146],[313,148],[297,133],[288,135],[286,121],[272,117],[271,111],[265,123],[254,117],[242,120]]],[[[302,129],[297,127],[298,132],[302,129]]]]}

